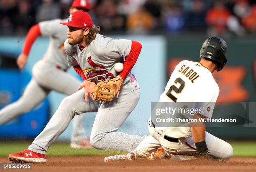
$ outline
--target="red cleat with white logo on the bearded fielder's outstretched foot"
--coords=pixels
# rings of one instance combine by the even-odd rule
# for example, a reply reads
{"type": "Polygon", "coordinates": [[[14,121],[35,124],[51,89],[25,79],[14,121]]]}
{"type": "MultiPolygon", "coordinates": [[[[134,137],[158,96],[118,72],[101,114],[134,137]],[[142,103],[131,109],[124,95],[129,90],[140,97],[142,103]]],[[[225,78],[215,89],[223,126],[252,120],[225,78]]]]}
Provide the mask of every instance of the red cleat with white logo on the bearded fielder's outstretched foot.
{"type": "Polygon", "coordinates": [[[31,150],[24,150],[20,153],[10,154],[8,157],[9,161],[13,163],[44,163],[46,162],[46,155],[33,152],[31,150]]]}

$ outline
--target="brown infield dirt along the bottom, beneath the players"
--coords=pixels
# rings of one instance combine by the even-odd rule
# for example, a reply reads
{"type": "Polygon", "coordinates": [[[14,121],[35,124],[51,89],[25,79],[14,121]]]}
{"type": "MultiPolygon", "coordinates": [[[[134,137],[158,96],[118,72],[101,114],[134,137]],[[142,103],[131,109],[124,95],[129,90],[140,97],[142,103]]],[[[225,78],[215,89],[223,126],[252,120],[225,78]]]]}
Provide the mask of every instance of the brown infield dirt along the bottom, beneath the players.
{"type": "MultiPolygon", "coordinates": [[[[33,164],[29,171],[35,172],[255,172],[256,158],[232,158],[228,162],[190,160],[184,162],[147,161],[116,162],[105,164],[104,157],[47,157],[45,164],[33,164]]],[[[10,163],[0,157],[0,163],[10,163]]],[[[0,170],[1,171],[1,170],[0,170]]],[[[3,171],[3,170],[2,170],[3,171]]],[[[17,171],[17,170],[12,170],[17,171]]]]}

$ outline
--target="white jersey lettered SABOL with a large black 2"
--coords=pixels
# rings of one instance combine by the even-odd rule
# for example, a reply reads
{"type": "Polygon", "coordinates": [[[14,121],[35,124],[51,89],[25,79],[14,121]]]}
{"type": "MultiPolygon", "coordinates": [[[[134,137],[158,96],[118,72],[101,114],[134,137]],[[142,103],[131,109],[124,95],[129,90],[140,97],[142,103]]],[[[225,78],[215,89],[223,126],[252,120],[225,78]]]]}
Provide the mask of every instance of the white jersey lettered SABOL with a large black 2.
{"type": "MultiPolygon", "coordinates": [[[[212,117],[219,87],[212,73],[200,62],[184,60],[172,72],[172,75],[160,96],[159,102],[205,102],[200,103],[205,117],[212,117]]],[[[174,138],[190,137],[190,125],[187,127],[157,127],[159,131],[174,138]]]]}

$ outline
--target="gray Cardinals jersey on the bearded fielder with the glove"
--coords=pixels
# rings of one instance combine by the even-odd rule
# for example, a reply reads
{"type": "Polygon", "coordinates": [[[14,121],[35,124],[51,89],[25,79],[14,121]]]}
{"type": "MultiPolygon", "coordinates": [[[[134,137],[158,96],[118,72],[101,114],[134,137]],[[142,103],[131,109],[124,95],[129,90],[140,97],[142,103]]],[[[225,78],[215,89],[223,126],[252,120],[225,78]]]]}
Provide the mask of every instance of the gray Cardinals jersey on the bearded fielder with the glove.
{"type": "Polygon", "coordinates": [[[80,66],[86,80],[99,82],[117,77],[114,65],[123,62],[131,50],[131,40],[115,40],[96,34],[95,40],[82,51],[78,45],[70,45],[65,41],[68,64],[80,66]]]}

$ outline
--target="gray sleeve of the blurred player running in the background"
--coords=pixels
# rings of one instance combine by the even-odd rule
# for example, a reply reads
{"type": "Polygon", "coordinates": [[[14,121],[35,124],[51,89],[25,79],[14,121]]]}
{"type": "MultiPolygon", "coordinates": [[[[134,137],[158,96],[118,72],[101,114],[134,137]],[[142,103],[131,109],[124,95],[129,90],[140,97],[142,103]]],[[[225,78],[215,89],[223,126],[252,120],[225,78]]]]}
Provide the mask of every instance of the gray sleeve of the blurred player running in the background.
{"type": "Polygon", "coordinates": [[[60,19],[39,22],[41,35],[51,36],[57,34],[61,28],[61,24],[59,22],[61,22],[60,19]]]}

